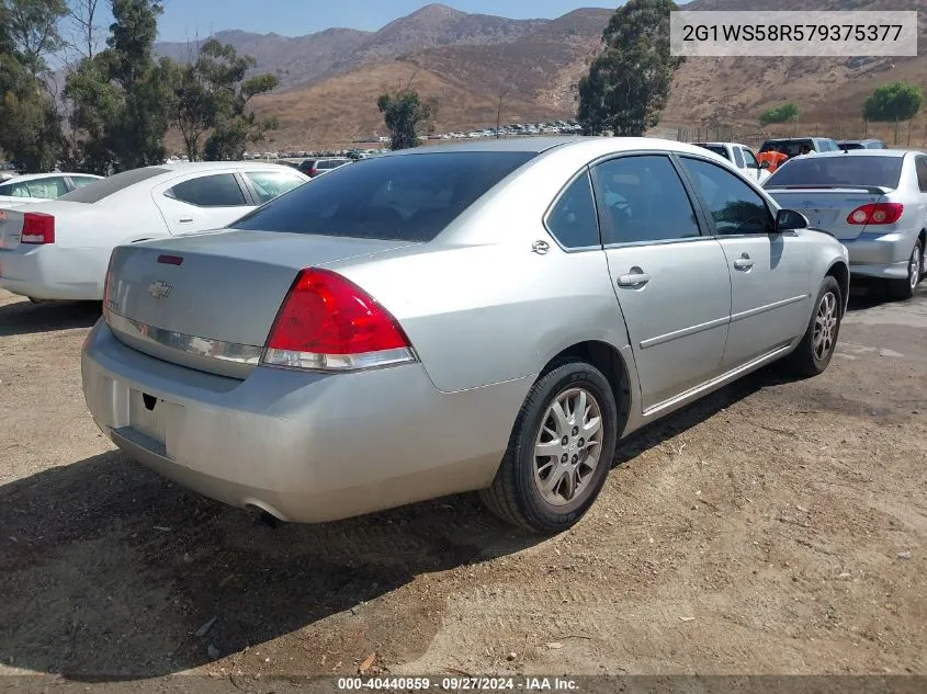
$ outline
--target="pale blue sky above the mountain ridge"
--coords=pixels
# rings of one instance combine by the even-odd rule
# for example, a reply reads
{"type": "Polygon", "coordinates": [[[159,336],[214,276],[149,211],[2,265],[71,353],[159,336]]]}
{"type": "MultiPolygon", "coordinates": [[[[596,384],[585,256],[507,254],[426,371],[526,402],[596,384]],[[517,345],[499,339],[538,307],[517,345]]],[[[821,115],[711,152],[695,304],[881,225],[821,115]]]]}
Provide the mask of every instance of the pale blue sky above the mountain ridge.
{"type": "MultiPolygon", "coordinates": [[[[302,36],[332,26],[375,31],[427,0],[166,0],[160,41],[186,41],[226,29],[302,36]]],[[[445,0],[463,12],[511,19],[553,19],[578,8],[614,9],[620,0],[445,0]]],[[[109,18],[104,20],[109,24],[109,18]]]]}

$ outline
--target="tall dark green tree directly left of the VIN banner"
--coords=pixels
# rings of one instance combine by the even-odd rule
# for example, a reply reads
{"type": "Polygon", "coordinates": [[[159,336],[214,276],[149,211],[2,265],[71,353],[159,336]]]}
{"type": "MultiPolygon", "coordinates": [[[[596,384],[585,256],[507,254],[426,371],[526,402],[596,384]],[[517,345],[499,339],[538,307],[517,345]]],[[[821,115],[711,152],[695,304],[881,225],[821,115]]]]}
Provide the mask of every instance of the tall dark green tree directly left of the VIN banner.
{"type": "Polygon", "coordinates": [[[629,0],[615,10],[602,49],[579,80],[585,134],[641,136],[659,123],[683,61],[669,49],[669,13],[677,9],[672,0],[629,0]]]}

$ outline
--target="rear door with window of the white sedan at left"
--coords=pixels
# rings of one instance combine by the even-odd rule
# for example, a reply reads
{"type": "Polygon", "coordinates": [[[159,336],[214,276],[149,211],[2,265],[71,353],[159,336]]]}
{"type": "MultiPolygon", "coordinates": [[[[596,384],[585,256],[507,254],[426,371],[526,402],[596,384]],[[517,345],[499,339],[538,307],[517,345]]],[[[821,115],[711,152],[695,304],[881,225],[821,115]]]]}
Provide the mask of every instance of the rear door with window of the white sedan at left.
{"type": "Polygon", "coordinates": [[[152,195],[172,235],[218,229],[255,208],[251,194],[233,170],[172,179],[152,195]]]}

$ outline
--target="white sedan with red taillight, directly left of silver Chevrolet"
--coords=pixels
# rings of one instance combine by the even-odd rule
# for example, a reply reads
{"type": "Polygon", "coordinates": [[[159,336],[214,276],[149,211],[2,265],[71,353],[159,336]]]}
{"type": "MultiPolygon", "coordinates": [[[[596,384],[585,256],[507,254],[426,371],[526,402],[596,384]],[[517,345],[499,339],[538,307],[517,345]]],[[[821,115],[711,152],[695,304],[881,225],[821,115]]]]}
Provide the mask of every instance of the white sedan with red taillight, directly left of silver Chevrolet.
{"type": "Polygon", "coordinates": [[[176,163],[2,209],[0,287],[34,300],[101,300],[116,246],[224,227],[308,180],[279,164],[176,163]]]}

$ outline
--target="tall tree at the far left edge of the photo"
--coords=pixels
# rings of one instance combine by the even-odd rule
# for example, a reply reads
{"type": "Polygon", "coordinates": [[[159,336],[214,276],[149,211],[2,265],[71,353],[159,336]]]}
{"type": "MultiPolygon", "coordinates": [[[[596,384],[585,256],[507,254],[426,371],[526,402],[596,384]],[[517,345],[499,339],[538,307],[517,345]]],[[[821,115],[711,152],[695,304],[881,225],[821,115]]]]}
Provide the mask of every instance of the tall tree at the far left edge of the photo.
{"type": "Polygon", "coordinates": [[[50,171],[61,151],[60,117],[44,78],[60,47],[59,0],[0,0],[0,149],[27,171],[50,171]]]}

